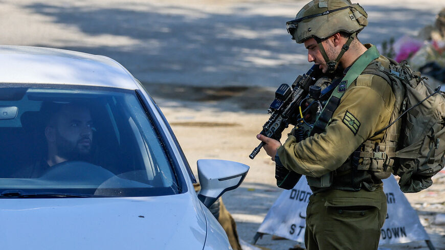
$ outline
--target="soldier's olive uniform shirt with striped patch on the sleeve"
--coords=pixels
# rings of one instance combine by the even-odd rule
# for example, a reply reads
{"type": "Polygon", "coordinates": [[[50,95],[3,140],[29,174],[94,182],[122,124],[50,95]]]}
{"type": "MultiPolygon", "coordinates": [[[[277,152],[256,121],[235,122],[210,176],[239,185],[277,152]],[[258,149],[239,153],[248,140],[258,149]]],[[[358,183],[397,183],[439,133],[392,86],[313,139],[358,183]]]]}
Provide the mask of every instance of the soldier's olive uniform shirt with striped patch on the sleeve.
{"type": "MultiPolygon", "coordinates": [[[[383,56],[376,60],[385,67],[389,65],[383,56]]],[[[298,143],[290,135],[278,148],[281,163],[288,170],[311,177],[338,169],[364,141],[389,124],[394,102],[386,80],[360,75],[346,90],[323,133],[298,143]]],[[[383,135],[376,135],[373,141],[380,142],[383,135]]]]}

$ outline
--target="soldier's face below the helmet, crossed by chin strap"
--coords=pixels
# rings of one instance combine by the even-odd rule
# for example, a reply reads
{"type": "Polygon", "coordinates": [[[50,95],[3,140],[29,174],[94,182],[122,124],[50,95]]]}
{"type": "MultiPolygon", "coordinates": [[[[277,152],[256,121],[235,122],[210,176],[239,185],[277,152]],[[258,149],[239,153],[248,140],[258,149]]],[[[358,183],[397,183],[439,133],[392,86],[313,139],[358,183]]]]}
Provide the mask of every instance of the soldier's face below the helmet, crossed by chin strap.
{"type": "MultiPolygon", "coordinates": [[[[326,51],[327,57],[329,60],[332,60],[333,57],[333,48],[332,44],[329,40],[322,41],[323,48],[326,51]]],[[[321,54],[320,48],[318,47],[318,43],[315,40],[315,38],[310,38],[304,41],[304,47],[307,49],[307,61],[314,62],[315,64],[319,64],[320,69],[323,73],[326,73],[327,71],[327,65],[326,61],[323,58],[323,55],[321,54]]]]}

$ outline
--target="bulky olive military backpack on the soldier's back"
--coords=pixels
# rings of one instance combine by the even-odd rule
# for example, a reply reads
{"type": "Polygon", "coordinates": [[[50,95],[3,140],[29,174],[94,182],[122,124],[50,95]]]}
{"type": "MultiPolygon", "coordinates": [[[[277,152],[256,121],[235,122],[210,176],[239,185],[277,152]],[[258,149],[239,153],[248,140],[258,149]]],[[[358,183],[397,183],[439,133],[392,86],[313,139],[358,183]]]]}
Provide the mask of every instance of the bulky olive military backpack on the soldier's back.
{"type": "Polygon", "coordinates": [[[388,60],[389,69],[375,63],[378,69],[362,73],[383,77],[396,99],[389,125],[374,133],[386,130],[382,142],[368,146],[377,156],[369,158],[383,160],[374,170],[382,178],[392,172],[400,177],[400,190],[415,193],[430,187],[431,177],[445,165],[445,94],[440,86],[434,89],[426,77],[413,72],[406,61],[388,60]]]}

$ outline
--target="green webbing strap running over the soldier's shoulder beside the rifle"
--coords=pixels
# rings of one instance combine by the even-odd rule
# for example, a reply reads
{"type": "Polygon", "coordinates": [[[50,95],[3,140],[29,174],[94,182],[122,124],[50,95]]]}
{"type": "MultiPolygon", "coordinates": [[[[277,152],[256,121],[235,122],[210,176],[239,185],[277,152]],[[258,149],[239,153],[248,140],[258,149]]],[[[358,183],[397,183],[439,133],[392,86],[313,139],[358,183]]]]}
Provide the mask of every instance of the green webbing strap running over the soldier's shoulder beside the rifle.
{"type": "Polygon", "coordinates": [[[352,66],[346,73],[345,77],[343,77],[338,87],[333,90],[326,105],[321,111],[320,116],[317,118],[314,124],[314,128],[310,132],[310,135],[314,135],[315,133],[321,133],[324,131],[324,129],[327,126],[327,123],[332,118],[333,112],[337,109],[338,105],[340,104],[340,99],[346,92],[346,89],[351,85],[353,81],[355,81],[355,79],[357,79],[360,76],[360,74],[362,74],[362,72],[366,69],[368,64],[372,60],[379,58],[379,56],[380,56],[379,51],[377,51],[375,46],[372,46],[365,53],[363,53],[359,57],[359,59],[357,59],[357,61],[355,61],[352,64],[352,66]]]}

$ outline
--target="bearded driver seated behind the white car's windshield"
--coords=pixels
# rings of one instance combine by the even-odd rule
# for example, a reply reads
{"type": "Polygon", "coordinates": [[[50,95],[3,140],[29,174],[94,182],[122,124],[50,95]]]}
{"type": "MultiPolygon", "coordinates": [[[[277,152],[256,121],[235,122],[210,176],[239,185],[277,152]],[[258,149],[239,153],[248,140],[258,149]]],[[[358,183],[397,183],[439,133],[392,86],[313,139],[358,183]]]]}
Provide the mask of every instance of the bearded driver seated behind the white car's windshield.
{"type": "Polygon", "coordinates": [[[38,178],[52,166],[65,161],[92,160],[93,121],[90,109],[81,103],[43,104],[47,113],[44,137],[48,153],[35,164],[19,170],[17,178],[38,178]]]}

